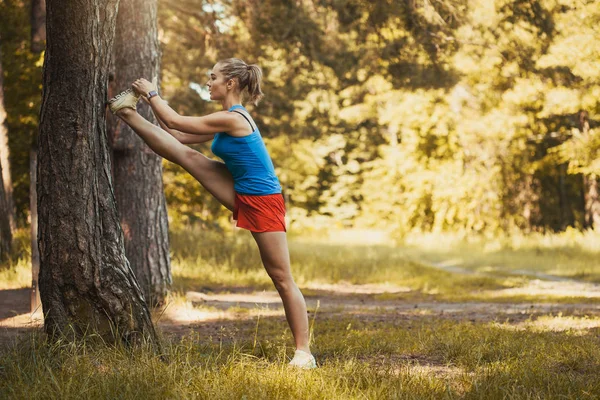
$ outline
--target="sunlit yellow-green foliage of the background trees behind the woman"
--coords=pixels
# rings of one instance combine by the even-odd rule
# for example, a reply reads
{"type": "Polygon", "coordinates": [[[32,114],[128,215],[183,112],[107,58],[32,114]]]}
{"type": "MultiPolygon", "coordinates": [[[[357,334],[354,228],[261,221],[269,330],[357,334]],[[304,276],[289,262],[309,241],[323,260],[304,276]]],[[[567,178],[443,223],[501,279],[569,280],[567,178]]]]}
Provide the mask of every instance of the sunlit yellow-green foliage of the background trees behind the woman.
{"type": "MultiPolygon", "coordinates": [[[[23,219],[40,63],[28,5],[0,7],[14,22],[0,35],[23,219]]],[[[580,0],[166,0],[162,88],[180,113],[204,114],[218,110],[200,93],[219,59],[263,67],[251,111],[292,231],[580,229],[582,174],[600,170],[599,21],[600,4],[580,0]]],[[[165,182],[172,224],[229,229],[179,167],[165,164],[165,182]]]]}

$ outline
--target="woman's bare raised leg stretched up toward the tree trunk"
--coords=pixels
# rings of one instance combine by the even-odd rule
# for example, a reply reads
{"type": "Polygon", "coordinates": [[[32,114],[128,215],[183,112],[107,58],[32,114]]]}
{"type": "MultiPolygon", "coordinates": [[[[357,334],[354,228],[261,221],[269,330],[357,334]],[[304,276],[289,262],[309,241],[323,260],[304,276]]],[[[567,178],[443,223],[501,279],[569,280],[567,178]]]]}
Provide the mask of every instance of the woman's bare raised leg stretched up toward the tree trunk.
{"type": "Polygon", "coordinates": [[[204,154],[179,143],[168,132],[150,123],[133,109],[123,108],[117,112],[117,116],[129,125],[156,154],[182,166],[221,204],[233,210],[235,200],[233,177],[225,164],[211,160],[204,154]]]}

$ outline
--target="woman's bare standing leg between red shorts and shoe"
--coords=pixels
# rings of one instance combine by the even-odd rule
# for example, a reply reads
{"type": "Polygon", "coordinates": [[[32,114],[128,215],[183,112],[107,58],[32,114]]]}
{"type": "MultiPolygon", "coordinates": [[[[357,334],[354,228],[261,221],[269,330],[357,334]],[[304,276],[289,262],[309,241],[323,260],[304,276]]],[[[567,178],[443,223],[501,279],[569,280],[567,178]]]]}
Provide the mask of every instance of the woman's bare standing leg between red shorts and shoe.
{"type": "Polygon", "coordinates": [[[252,232],[260,257],[283,301],[285,317],[294,335],[296,348],[310,354],[306,302],[292,278],[290,253],[285,232],[252,232]]]}

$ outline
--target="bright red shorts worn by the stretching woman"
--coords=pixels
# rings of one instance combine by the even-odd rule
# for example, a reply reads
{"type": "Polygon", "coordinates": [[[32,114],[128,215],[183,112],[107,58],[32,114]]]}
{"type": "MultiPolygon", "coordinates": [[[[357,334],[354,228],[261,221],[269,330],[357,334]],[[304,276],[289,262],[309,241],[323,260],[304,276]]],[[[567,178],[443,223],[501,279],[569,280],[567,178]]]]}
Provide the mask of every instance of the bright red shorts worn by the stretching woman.
{"type": "Polygon", "coordinates": [[[237,227],[251,232],[285,232],[283,195],[251,196],[235,194],[233,219],[237,227]]]}

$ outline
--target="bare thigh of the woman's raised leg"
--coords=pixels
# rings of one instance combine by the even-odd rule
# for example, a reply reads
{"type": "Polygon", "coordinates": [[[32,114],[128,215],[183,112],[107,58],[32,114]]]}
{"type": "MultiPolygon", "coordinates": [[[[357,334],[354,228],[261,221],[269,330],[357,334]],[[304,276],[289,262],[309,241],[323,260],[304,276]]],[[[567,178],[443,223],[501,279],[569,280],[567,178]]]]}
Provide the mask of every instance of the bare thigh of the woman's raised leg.
{"type": "Polygon", "coordinates": [[[178,155],[176,162],[196,178],[221,204],[233,211],[235,203],[233,177],[224,163],[211,160],[187,146],[181,155],[178,155]]]}

